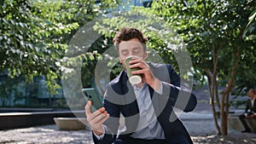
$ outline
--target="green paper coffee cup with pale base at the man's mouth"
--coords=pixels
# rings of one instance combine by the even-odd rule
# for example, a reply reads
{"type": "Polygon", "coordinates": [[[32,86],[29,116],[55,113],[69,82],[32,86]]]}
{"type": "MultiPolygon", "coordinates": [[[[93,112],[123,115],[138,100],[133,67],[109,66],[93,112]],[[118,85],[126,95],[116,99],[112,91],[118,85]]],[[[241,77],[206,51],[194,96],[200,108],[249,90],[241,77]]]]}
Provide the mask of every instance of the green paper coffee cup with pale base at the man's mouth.
{"type": "Polygon", "coordinates": [[[133,84],[140,84],[142,82],[142,77],[141,75],[133,75],[132,72],[140,70],[140,67],[134,67],[134,68],[130,68],[130,64],[129,62],[132,60],[134,56],[128,56],[125,59],[125,66],[126,66],[126,71],[127,71],[127,75],[129,78],[129,82],[133,85],[133,84]]]}

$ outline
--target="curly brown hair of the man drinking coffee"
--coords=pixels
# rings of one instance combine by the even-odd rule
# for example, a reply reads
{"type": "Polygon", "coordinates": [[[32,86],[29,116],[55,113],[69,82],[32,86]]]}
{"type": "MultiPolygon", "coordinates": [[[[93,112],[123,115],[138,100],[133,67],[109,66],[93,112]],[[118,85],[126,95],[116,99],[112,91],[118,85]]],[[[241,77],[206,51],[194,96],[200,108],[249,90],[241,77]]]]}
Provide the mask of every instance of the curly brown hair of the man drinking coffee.
{"type": "Polygon", "coordinates": [[[146,50],[146,42],[148,41],[148,38],[143,34],[143,32],[130,27],[123,27],[116,33],[113,37],[113,45],[119,51],[119,43],[121,43],[121,41],[129,41],[132,38],[137,38],[141,43],[143,43],[143,49],[146,50]]]}

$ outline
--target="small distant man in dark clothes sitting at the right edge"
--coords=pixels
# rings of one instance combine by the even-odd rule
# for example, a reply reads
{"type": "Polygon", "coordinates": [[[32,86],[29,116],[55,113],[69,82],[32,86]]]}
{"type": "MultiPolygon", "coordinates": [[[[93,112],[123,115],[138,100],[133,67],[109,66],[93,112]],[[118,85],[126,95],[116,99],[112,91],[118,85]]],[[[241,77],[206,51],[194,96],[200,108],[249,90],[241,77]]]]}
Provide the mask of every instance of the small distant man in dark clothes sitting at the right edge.
{"type": "Polygon", "coordinates": [[[245,109],[245,113],[241,114],[239,116],[239,119],[241,120],[241,124],[244,126],[245,130],[241,131],[244,132],[252,132],[252,130],[249,128],[247,122],[245,121],[245,118],[256,118],[255,112],[256,112],[256,90],[255,89],[249,89],[247,95],[250,97],[250,99],[247,101],[247,107],[245,109]]]}

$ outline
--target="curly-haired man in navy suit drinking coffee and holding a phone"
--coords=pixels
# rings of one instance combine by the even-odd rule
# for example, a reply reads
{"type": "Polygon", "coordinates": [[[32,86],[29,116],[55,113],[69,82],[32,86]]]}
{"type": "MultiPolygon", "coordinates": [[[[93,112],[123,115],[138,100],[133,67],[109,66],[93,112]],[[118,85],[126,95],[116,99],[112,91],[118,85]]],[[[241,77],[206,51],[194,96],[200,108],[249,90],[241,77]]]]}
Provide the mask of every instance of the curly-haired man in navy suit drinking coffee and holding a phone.
{"type": "Polygon", "coordinates": [[[146,41],[142,32],[128,27],[113,38],[125,70],[108,84],[104,107],[92,113],[92,102],[85,106],[96,144],[193,143],[173,107],[193,111],[195,95],[180,88],[180,78],[171,65],[144,60],[148,56],[146,41]],[[142,76],[140,84],[131,85],[128,81],[125,58],[131,55],[135,57],[130,68],[140,68],[132,72],[142,76]],[[118,131],[120,114],[125,118],[125,127],[118,131]]]}

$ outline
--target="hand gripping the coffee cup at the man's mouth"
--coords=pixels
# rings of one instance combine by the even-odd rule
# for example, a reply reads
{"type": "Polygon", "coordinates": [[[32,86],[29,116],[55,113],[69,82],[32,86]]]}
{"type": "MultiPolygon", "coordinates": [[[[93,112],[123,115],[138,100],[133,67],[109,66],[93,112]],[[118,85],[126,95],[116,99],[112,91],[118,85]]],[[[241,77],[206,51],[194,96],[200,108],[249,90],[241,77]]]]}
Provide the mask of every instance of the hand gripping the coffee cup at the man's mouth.
{"type": "Polygon", "coordinates": [[[154,74],[148,66],[147,62],[142,57],[132,58],[130,65],[130,68],[141,68],[141,70],[134,71],[132,74],[142,74],[143,82],[147,83],[154,90],[160,89],[160,80],[154,77],[154,74]]]}

